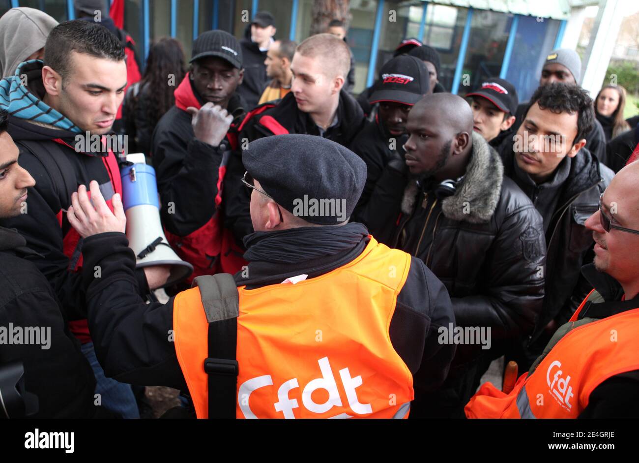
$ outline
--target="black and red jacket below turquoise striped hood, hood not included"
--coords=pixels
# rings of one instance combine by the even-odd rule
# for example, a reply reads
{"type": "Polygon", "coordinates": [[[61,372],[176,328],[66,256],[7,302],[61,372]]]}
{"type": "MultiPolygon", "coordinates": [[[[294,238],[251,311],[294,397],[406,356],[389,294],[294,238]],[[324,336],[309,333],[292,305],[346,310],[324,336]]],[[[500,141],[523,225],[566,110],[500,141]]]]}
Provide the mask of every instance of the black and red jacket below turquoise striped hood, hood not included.
{"type": "MultiPolygon", "coordinates": [[[[8,132],[20,148],[20,166],[35,178],[29,189],[25,214],[4,219],[2,225],[15,228],[27,246],[44,258],[33,262],[54,288],[73,334],[82,342],[91,341],[86,323],[85,292],[80,281],[82,238],[66,219],[71,192],[91,180],[111,208],[114,193],[122,192],[118,158],[114,153],[78,152],[76,132],[36,125],[10,116],[8,132]]],[[[148,284],[142,270],[135,272],[139,294],[148,284]]]]}

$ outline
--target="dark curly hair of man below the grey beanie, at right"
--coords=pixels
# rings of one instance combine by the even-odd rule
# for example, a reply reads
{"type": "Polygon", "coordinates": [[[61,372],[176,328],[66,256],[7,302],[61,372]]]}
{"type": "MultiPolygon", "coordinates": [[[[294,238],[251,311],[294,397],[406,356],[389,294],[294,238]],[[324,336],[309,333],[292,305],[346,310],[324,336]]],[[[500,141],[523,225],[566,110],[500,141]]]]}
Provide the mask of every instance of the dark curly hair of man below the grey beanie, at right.
{"type": "Polygon", "coordinates": [[[528,114],[535,103],[541,109],[548,109],[555,114],[578,113],[577,135],[574,137],[573,145],[576,141],[584,139],[594,126],[595,112],[592,109],[592,98],[586,90],[576,84],[553,82],[540,86],[530,98],[524,114],[528,114]]]}

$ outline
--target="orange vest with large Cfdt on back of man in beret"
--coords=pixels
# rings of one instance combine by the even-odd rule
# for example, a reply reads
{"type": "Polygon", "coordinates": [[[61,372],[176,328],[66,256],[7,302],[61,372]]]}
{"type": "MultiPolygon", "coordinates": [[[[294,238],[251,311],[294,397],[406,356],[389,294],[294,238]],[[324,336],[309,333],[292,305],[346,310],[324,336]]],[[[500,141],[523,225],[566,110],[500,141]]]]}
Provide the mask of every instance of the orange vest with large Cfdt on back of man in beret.
{"type": "MultiPolygon", "coordinates": [[[[327,274],[238,288],[236,418],[407,418],[413,377],[390,342],[410,255],[370,241],[327,274]]],[[[208,418],[208,322],[197,287],[173,302],[175,350],[208,418]]]]}

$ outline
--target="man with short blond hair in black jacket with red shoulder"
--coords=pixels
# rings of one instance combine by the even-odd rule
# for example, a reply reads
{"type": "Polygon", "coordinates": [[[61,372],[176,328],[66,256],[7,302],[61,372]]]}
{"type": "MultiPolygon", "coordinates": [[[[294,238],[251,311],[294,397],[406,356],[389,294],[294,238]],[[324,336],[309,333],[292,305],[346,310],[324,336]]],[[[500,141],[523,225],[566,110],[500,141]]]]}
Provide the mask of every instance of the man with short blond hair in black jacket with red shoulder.
{"type": "MultiPolygon", "coordinates": [[[[272,135],[307,134],[349,146],[364,127],[362,108],[343,90],[349,59],[346,43],[330,34],[300,43],[291,62],[290,93],[276,106],[264,104],[247,115],[240,126],[240,145],[272,135]]],[[[242,184],[245,171],[240,155],[231,156],[222,191],[225,226],[238,244],[253,231],[250,198],[242,184]]]]}

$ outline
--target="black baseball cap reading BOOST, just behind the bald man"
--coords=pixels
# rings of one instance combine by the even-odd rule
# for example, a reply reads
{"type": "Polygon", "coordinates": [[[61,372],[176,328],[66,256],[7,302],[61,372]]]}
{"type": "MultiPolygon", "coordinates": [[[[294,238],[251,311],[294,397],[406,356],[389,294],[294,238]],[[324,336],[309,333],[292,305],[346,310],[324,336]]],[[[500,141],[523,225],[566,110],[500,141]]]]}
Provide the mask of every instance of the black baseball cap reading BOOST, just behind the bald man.
{"type": "Polygon", "coordinates": [[[403,54],[381,67],[380,80],[368,101],[370,104],[394,101],[412,106],[429,89],[429,75],[424,62],[403,54]]]}

